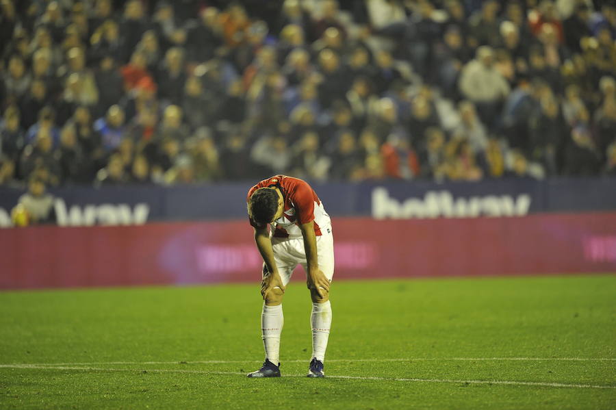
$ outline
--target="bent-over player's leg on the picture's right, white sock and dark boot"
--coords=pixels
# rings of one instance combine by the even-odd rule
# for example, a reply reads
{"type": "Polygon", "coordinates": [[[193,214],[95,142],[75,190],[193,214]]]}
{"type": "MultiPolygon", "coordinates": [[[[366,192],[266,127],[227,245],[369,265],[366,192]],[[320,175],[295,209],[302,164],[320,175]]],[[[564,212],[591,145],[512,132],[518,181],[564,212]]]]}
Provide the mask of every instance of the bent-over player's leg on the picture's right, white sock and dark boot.
{"type": "MultiPolygon", "coordinates": [[[[331,233],[324,234],[317,238],[317,253],[319,269],[331,282],[334,271],[333,236],[331,233]]],[[[305,266],[306,268],[306,266],[305,266]]],[[[322,377],[323,361],[325,350],[329,341],[329,331],[331,329],[331,303],[329,292],[321,289],[323,295],[318,294],[316,289],[310,290],[312,300],[312,312],[310,324],[312,329],[312,360],[310,363],[309,377],[322,377]]]]}

